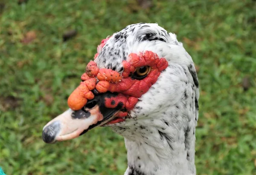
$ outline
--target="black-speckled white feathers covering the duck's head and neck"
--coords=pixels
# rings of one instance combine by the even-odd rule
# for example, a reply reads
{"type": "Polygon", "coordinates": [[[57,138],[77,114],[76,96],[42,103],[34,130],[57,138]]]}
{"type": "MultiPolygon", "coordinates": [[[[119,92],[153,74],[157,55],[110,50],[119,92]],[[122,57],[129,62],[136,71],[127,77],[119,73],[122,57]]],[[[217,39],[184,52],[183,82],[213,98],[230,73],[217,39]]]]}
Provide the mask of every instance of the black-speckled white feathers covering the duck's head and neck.
{"type": "Polygon", "coordinates": [[[165,57],[169,66],[140,98],[130,113],[131,118],[111,126],[125,137],[128,152],[125,175],[195,174],[198,79],[192,58],[176,35],[168,34],[156,23],[128,26],[113,34],[96,63],[119,70],[129,53],[145,50],[165,57]],[[121,39],[116,41],[116,35],[121,39]],[[152,39],[145,37],[147,35],[152,39]],[[115,50],[125,54],[123,57],[122,54],[121,57],[120,54],[111,55],[115,50]]]}

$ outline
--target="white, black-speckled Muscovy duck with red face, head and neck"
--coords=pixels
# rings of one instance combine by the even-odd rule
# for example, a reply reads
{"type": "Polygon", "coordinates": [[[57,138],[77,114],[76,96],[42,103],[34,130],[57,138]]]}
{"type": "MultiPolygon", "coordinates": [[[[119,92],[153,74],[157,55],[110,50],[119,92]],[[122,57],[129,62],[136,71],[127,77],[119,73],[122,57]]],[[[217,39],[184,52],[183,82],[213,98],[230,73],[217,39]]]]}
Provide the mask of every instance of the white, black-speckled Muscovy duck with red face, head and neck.
{"type": "Polygon", "coordinates": [[[125,175],[194,175],[198,77],[191,56],[157,23],[102,40],[68,109],[43,128],[46,143],[108,126],[125,138],[125,175]]]}

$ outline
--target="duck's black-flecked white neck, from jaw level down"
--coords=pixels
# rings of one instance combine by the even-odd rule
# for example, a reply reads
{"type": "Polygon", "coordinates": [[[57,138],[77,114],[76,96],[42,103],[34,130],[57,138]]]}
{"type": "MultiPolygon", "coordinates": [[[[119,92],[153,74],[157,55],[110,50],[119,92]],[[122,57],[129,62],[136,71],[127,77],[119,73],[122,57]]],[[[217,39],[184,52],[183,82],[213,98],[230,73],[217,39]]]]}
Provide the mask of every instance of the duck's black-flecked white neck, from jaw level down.
{"type": "Polygon", "coordinates": [[[125,175],[194,175],[196,121],[184,116],[165,112],[113,128],[125,137],[125,175]]]}

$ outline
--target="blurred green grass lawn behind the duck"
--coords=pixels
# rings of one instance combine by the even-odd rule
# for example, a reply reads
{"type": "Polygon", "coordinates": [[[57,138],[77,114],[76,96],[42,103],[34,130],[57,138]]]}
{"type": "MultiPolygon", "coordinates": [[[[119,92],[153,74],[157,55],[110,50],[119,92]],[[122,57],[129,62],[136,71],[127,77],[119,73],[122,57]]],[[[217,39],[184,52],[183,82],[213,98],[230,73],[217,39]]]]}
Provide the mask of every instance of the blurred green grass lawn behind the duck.
{"type": "Polygon", "coordinates": [[[199,68],[198,175],[256,175],[255,0],[146,3],[1,1],[0,166],[7,175],[125,172],[123,138],[109,128],[54,145],[45,144],[41,132],[67,109],[100,41],[139,22],[176,33],[199,68]],[[71,29],[76,37],[64,42],[71,29]]]}

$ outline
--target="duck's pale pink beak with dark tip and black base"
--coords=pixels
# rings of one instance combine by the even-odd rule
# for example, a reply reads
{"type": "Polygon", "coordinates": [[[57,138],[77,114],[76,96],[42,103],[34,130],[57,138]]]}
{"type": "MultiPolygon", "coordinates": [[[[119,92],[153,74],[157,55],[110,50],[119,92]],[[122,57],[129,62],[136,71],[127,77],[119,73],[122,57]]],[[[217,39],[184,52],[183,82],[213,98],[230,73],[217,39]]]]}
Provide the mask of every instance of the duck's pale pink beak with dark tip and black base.
{"type": "Polygon", "coordinates": [[[93,100],[78,111],[68,109],[52,119],[43,128],[43,140],[46,143],[65,141],[79,137],[95,126],[102,126],[115,118],[120,108],[106,108],[105,101],[116,94],[106,92],[96,95],[93,100]]]}

